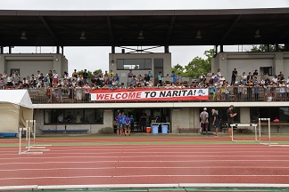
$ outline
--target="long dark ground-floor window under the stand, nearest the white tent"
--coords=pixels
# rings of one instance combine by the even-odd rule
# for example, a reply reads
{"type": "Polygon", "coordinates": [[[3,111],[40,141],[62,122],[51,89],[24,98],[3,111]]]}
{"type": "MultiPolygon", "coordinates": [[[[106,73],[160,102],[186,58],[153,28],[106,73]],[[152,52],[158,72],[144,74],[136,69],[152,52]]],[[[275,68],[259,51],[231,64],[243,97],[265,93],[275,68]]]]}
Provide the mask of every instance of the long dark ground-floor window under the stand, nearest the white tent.
{"type": "Polygon", "coordinates": [[[103,124],[103,109],[45,109],[45,124],[103,124]]]}

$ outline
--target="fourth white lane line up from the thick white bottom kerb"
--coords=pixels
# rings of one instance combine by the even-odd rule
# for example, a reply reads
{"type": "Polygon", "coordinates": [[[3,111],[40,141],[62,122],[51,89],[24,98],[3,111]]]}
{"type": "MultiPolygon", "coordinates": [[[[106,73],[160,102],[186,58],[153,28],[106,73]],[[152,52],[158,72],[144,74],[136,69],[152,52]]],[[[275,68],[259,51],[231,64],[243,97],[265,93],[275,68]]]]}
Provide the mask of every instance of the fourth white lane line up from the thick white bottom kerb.
{"type": "MultiPolygon", "coordinates": [[[[76,155],[76,154],[73,154],[76,155]]],[[[97,154],[94,154],[97,155],[97,154]]],[[[218,156],[212,156],[212,155],[203,155],[203,156],[37,156],[37,159],[62,159],[62,158],[137,158],[137,157],[289,157],[285,156],[284,154],[279,154],[278,156],[270,156],[270,155],[261,155],[261,156],[235,156],[235,155],[218,155],[218,156]]],[[[0,158],[0,160],[21,160],[21,159],[36,159],[35,156],[29,156],[29,157],[14,157],[14,158],[0,158]]],[[[289,161],[289,159],[288,159],[289,161]]]]}

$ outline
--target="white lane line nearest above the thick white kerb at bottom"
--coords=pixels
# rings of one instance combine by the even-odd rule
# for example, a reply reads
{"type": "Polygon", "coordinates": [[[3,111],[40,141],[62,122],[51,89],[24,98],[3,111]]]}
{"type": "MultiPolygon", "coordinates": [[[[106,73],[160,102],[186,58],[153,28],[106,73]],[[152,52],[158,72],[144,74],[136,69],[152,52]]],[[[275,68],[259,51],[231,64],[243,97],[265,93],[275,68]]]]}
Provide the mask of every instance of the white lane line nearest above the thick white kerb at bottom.
{"type": "Polygon", "coordinates": [[[31,177],[31,178],[0,178],[0,180],[43,180],[43,179],[86,179],[86,178],[141,178],[141,177],[289,177],[284,175],[81,175],[81,176],[62,176],[62,177],[31,177]]]}

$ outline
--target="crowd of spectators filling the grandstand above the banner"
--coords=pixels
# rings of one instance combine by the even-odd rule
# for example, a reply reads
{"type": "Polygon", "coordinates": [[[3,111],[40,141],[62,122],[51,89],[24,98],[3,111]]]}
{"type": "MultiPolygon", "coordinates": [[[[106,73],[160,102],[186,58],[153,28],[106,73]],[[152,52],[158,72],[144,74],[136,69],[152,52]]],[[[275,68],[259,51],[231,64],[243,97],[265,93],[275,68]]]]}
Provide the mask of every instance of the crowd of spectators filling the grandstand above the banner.
{"type": "Polygon", "coordinates": [[[155,76],[157,84],[154,86],[154,78],[151,71],[142,75],[135,75],[132,70],[128,72],[128,84],[120,83],[120,76],[111,70],[103,73],[94,73],[88,79],[87,69],[82,74],[78,74],[77,69],[71,76],[64,72],[61,76],[54,70],[49,70],[43,74],[40,70],[31,76],[20,78],[18,71],[12,74],[4,72],[0,74],[0,89],[44,89],[47,102],[57,100],[62,102],[63,94],[67,95],[70,101],[89,101],[90,91],[94,89],[128,89],[136,88],[164,88],[164,89],[184,89],[202,88],[208,89],[210,100],[260,100],[262,92],[263,100],[288,100],[289,98],[289,78],[285,80],[284,74],[280,72],[278,76],[270,77],[268,73],[259,76],[256,69],[253,73],[246,72],[239,76],[236,68],[232,71],[230,84],[223,76],[220,69],[216,73],[209,71],[206,75],[202,73],[199,79],[195,79],[191,84],[183,81],[180,73],[174,71],[171,75],[162,76],[161,72],[155,76]],[[166,78],[170,77],[170,78],[166,78]]]}

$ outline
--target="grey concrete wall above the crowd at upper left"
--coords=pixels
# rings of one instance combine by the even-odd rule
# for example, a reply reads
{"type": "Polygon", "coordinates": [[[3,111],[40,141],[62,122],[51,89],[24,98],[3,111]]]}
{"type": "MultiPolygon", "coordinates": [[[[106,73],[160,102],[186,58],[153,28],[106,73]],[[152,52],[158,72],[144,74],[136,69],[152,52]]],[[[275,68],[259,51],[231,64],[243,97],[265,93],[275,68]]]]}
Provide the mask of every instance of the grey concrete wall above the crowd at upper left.
{"type": "Polygon", "coordinates": [[[36,75],[40,70],[45,76],[49,70],[56,70],[62,76],[68,71],[68,60],[62,54],[12,53],[0,54],[0,73],[10,74],[11,68],[20,68],[20,77],[36,75]]]}

